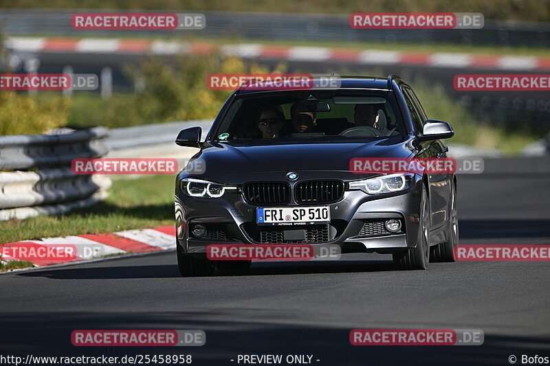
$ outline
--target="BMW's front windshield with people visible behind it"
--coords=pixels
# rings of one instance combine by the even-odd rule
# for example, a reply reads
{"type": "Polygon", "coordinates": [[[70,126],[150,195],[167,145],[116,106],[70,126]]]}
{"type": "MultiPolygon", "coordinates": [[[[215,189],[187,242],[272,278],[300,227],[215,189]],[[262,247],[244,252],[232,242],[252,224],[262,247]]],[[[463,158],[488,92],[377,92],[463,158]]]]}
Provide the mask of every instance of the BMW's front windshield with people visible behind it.
{"type": "Polygon", "coordinates": [[[212,139],[382,139],[405,134],[390,91],[284,91],[238,95],[212,139]]]}

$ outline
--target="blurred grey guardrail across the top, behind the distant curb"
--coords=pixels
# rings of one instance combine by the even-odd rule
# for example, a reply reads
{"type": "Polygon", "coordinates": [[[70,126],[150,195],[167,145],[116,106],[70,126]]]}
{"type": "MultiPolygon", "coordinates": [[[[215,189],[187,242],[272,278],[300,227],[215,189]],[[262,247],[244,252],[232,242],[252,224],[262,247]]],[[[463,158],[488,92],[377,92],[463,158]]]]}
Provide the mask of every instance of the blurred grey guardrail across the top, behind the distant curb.
{"type": "MultiPolygon", "coordinates": [[[[181,36],[164,30],[74,30],[71,15],[76,12],[128,12],[127,10],[0,10],[3,32],[10,35],[43,34],[60,36],[113,36],[136,34],[181,36]]],[[[140,12],[152,12],[143,11],[140,12]]],[[[181,12],[155,10],[155,12],[181,12]]],[[[272,40],[308,40],[382,43],[459,43],[463,45],[500,45],[547,47],[550,23],[492,21],[485,19],[480,30],[355,30],[349,26],[349,14],[201,12],[206,15],[203,30],[186,34],[208,37],[237,37],[272,40]]]]}

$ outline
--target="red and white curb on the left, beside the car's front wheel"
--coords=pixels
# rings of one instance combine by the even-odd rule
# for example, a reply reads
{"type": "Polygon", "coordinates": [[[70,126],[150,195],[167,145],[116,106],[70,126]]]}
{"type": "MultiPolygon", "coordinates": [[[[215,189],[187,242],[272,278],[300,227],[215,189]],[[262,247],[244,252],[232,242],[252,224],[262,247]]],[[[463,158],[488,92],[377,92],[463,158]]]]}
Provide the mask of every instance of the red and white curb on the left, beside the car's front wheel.
{"type": "MultiPolygon", "coordinates": [[[[124,253],[145,253],[175,249],[175,227],[164,226],[154,229],[135,229],[115,233],[85,234],[41,240],[24,240],[0,244],[0,260],[28,260],[34,266],[50,266],[69,262],[83,262],[104,258],[106,255],[124,253]],[[36,255],[47,253],[47,249],[70,248],[70,255],[36,255]],[[76,249],[76,250],[75,250],[76,249]],[[19,255],[18,255],[19,253],[19,255]],[[29,253],[34,253],[28,257],[29,253]]],[[[50,251],[50,253],[52,253],[50,251]]]]}

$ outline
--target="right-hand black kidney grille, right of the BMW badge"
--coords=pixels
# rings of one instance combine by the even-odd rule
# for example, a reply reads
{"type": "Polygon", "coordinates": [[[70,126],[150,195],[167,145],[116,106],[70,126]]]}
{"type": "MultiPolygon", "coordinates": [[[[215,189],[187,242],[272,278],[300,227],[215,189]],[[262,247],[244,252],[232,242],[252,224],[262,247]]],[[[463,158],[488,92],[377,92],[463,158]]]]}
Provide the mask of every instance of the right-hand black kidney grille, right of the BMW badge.
{"type": "Polygon", "coordinates": [[[342,181],[306,181],[294,187],[297,203],[331,203],[339,201],[343,194],[342,181]]]}

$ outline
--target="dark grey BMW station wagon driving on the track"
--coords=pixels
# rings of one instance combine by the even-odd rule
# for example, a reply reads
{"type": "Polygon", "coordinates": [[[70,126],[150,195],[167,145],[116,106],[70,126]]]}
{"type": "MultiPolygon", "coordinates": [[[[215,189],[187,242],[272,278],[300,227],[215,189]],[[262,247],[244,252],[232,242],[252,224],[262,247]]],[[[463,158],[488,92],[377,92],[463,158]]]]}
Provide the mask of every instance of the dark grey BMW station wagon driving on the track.
{"type": "Polygon", "coordinates": [[[341,78],[336,89],[239,88],[206,139],[182,130],[206,170],[177,175],[177,259],[183,276],[211,275],[208,244],[338,244],[391,253],[398,269],[454,261],[456,176],[351,172],[354,158],[442,158],[454,131],[428,119],[397,76],[341,78]]]}

